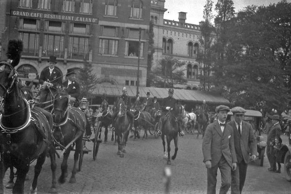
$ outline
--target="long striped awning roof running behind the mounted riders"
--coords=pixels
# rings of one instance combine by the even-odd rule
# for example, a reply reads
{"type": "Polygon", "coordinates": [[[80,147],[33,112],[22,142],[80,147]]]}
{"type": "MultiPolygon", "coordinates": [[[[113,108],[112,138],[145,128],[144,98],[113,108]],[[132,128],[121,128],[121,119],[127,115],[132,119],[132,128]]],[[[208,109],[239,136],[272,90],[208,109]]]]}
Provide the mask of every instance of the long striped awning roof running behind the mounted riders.
{"type": "MultiPolygon", "coordinates": [[[[102,96],[106,94],[108,97],[115,97],[122,94],[121,85],[107,85],[107,84],[97,84],[94,94],[102,96]]],[[[130,97],[135,97],[136,86],[125,86],[130,97]]],[[[146,92],[150,92],[150,97],[164,98],[168,97],[168,88],[155,88],[155,87],[139,87],[140,97],[146,97],[146,92]]],[[[183,90],[174,89],[174,98],[178,100],[183,100],[185,102],[202,102],[205,100],[210,104],[229,104],[229,101],[222,96],[215,96],[202,91],[196,90],[183,90]]]]}

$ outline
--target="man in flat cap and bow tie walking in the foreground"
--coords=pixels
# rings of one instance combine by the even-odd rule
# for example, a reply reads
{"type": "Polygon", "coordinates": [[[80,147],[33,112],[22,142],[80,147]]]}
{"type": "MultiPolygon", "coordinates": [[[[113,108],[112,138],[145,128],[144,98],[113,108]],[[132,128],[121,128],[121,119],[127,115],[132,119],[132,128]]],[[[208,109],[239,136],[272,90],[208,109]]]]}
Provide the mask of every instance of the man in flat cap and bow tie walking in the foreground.
{"type": "Polygon", "coordinates": [[[229,108],[224,105],[216,107],[218,120],[207,126],[202,143],[202,152],[207,168],[207,194],[216,193],[216,176],[219,168],[221,187],[219,194],[226,194],[231,183],[231,170],[236,169],[236,154],[233,129],[226,124],[229,108]]]}

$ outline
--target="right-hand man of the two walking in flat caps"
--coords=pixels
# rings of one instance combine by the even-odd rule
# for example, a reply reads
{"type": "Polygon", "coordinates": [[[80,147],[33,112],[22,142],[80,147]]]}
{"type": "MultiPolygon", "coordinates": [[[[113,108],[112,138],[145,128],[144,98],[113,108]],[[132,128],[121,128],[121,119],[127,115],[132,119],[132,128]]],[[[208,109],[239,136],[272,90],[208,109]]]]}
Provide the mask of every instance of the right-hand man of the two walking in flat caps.
{"type": "Polygon", "coordinates": [[[231,109],[234,120],[228,124],[233,129],[234,147],[238,160],[237,168],[231,171],[231,194],[241,194],[244,185],[247,164],[249,162],[249,151],[252,160],[257,159],[257,142],[251,124],[243,121],[243,115],[246,112],[242,107],[231,109]]]}

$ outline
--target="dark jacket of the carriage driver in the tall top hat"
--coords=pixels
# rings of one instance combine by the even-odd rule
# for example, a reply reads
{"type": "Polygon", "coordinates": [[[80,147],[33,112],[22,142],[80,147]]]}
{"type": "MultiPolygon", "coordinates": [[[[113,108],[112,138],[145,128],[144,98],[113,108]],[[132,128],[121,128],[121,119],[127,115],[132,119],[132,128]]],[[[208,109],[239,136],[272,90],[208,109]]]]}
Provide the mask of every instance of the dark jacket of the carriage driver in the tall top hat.
{"type": "Polygon", "coordinates": [[[51,75],[49,73],[49,68],[42,70],[39,76],[39,83],[43,84],[44,81],[49,81],[53,86],[58,86],[62,84],[62,75],[59,71],[56,71],[56,68],[53,69],[51,75]]]}

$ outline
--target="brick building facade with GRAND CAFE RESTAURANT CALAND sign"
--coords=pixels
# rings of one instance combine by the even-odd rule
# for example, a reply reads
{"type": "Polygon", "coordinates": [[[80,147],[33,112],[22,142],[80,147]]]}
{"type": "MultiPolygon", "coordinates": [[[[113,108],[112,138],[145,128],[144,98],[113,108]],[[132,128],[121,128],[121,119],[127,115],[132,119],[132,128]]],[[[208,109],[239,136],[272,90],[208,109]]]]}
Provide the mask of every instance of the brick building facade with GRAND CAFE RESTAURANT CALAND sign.
{"type": "Polygon", "coordinates": [[[9,39],[24,43],[19,77],[37,79],[55,55],[64,77],[88,62],[100,83],[136,85],[139,65],[146,85],[148,0],[1,0],[0,7],[2,53],[9,39]]]}

